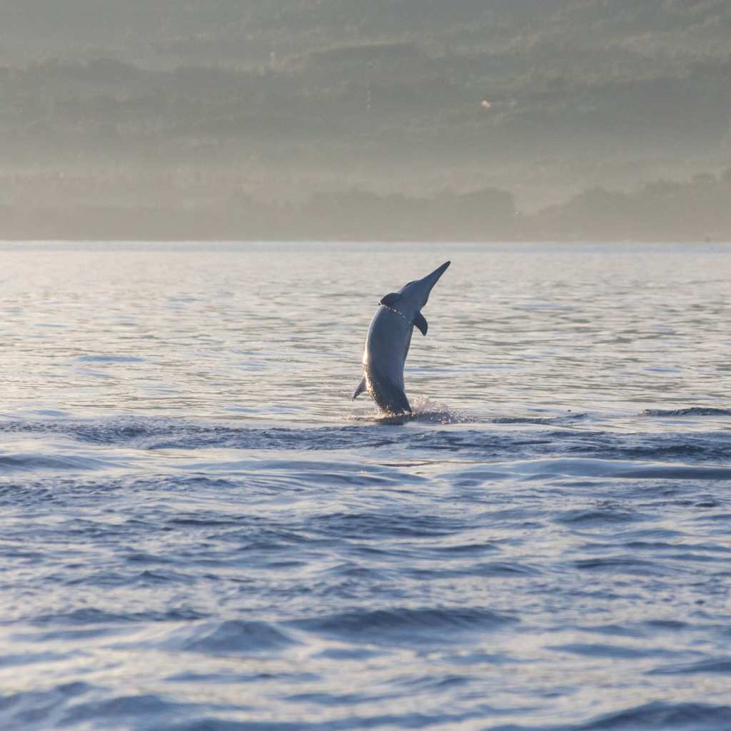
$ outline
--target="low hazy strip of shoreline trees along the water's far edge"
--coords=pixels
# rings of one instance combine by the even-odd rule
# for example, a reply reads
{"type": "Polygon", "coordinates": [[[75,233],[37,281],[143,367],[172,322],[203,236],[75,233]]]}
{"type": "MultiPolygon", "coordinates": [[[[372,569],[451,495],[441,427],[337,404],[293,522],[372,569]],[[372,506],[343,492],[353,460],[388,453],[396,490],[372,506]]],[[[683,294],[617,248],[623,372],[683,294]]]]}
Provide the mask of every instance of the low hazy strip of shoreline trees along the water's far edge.
{"type": "Polygon", "coordinates": [[[635,192],[586,190],[536,213],[485,188],[428,197],[363,189],[304,200],[241,195],[207,205],[0,205],[6,240],[520,241],[731,240],[731,168],[635,192]]]}

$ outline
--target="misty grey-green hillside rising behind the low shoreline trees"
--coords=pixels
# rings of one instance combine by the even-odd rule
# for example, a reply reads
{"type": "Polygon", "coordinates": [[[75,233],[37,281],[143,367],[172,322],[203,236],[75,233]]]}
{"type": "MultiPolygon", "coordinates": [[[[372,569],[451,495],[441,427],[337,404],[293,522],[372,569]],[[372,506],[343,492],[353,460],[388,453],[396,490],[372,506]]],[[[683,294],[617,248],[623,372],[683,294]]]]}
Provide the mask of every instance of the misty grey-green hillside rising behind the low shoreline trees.
{"type": "Polygon", "coordinates": [[[731,164],[727,0],[6,0],[0,205],[497,188],[731,164]]]}

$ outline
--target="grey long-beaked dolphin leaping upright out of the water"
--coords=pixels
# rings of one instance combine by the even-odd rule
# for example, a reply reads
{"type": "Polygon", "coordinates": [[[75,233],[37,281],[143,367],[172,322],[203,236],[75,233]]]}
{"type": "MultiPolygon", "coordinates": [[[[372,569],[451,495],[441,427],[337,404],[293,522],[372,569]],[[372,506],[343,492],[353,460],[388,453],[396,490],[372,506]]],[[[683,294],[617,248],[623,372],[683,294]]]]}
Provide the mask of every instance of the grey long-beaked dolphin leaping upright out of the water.
{"type": "Polygon", "coordinates": [[[427,322],[421,308],[429,299],[432,287],[451,262],[427,274],[424,279],[410,281],[398,292],[386,295],[379,303],[366,336],[363,351],[363,380],[353,398],[363,391],[373,396],[379,409],[389,414],[410,414],[411,406],[404,393],[404,363],[414,325],[426,335],[427,322]]]}

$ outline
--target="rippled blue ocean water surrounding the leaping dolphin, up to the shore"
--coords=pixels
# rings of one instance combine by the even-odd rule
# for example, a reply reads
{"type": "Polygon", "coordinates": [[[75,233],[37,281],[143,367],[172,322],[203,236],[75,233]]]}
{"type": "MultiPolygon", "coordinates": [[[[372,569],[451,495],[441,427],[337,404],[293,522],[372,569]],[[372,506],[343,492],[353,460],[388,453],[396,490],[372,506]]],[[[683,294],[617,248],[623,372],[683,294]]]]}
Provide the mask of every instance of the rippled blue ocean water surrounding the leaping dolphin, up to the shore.
{"type": "Polygon", "coordinates": [[[731,249],[0,246],[0,728],[731,729],[731,249]],[[379,298],[452,267],[417,414],[379,298]]]}

